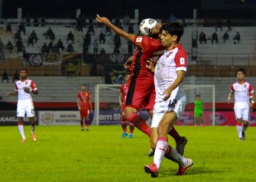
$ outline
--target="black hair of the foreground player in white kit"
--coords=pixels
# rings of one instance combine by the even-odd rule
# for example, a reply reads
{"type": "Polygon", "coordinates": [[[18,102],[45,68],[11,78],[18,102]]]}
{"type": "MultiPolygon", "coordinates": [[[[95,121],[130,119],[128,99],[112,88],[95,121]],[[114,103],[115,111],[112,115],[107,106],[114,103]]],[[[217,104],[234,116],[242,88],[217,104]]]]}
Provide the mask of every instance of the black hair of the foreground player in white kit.
{"type": "Polygon", "coordinates": [[[162,31],[167,31],[170,35],[177,36],[177,41],[179,42],[184,33],[184,25],[178,22],[165,23],[162,25],[161,32],[162,31]]]}

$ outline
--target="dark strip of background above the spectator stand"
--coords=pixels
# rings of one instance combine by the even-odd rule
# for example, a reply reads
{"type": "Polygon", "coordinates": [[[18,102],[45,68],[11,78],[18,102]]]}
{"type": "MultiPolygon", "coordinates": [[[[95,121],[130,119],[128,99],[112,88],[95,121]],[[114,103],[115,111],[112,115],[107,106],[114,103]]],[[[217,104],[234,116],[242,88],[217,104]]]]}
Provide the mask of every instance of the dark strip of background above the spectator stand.
{"type": "Polygon", "coordinates": [[[172,13],[178,18],[192,18],[197,8],[198,17],[209,18],[255,18],[255,0],[2,0],[5,18],[17,17],[18,7],[23,8],[23,17],[65,17],[75,18],[76,9],[93,17],[98,13],[108,17],[124,17],[128,10],[130,17],[134,9],[140,10],[140,18],[168,18],[172,13]]]}

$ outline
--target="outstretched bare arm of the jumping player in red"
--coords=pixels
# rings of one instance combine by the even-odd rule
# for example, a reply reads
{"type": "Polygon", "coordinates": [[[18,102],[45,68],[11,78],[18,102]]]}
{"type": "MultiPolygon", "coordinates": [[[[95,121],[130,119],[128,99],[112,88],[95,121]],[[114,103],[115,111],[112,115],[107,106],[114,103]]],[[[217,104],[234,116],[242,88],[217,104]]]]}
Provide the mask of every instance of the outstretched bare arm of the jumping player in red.
{"type": "Polygon", "coordinates": [[[135,35],[127,33],[126,31],[123,31],[121,28],[118,28],[116,25],[110,22],[107,17],[101,17],[97,15],[96,20],[98,23],[102,23],[106,26],[108,26],[110,29],[115,31],[118,35],[122,36],[124,39],[127,39],[129,41],[134,41],[135,35]]]}

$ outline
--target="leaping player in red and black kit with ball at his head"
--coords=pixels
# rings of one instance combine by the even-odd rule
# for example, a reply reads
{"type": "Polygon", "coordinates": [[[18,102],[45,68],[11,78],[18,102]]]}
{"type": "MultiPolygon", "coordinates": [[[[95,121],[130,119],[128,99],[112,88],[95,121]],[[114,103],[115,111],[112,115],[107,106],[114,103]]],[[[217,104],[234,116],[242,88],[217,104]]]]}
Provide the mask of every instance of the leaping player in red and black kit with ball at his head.
{"type": "MultiPolygon", "coordinates": [[[[146,65],[148,64],[147,61],[150,59],[155,61],[158,60],[165,50],[165,47],[158,39],[160,28],[157,26],[154,30],[151,28],[152,30],[149,34],[151,37],[136,36],[121,30],[116,25],[113,25],[113,23],[111,23],[106,17],[100,17],[97,15],[96,20],[98,23],[107,25],[124,39],[132,41],[133,44],[138,47],[132,57],[132,65],[129,67],[132,76],[128,81],[129,90],[127,92],[124,115],[129,122],[134,123],[135,127],[138,127],[139,130],[151,138],[151,148],[155,149],[157,144],[157,128],[151,129],[148,127],[146,121],[138,115],[138,110],[144,106],[148,111],[148,115],[152,117],[156,98],[156,92],[154,90],[154,73],[149,71],[146,65]]],[[[174,127],[170,130],[169,134],[176,140],[176,143],[178,139],[181,138],[174,127]]],[[[178,148],[182,146],[180,150],[182,153],[186,143],[187,139],[181,143],[182,145],[178,146],[178,148]]],[[[154,152],[148,155],[152,154],[154,154],[154,152]]]]}

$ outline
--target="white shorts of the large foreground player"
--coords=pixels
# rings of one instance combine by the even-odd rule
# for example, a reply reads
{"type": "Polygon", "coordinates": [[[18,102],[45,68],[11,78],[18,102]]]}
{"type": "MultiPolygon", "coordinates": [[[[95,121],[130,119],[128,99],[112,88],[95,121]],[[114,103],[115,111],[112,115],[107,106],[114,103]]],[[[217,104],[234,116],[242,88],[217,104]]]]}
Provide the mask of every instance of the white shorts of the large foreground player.
{"type": "Polygon", "coordinates": [[[177,118],[181,117],[186,106],[186,96],[182,97],[180,100],[173,100],[169,98],[166,101],[156,102],[154,104],[153,118],[151,122],[152,127],[158,127],[162,116],[164,116],[166,111],[174,111],[177,118]]]}

